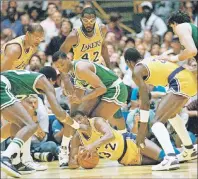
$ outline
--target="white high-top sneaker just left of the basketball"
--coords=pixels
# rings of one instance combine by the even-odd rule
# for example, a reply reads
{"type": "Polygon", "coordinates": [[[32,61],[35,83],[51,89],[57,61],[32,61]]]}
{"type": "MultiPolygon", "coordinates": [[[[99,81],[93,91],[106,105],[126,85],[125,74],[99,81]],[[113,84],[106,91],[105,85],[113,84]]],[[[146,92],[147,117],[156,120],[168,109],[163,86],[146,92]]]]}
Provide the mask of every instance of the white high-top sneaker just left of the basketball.
{"type": "Polygon", "coordinates": [[[67,147],[60,147],[60,153],[58,155],[58,160],[59,160],[59,166],[60,168],[67,168],[68,167],[68,162],[69,162],[69,154],[67,147]]]}

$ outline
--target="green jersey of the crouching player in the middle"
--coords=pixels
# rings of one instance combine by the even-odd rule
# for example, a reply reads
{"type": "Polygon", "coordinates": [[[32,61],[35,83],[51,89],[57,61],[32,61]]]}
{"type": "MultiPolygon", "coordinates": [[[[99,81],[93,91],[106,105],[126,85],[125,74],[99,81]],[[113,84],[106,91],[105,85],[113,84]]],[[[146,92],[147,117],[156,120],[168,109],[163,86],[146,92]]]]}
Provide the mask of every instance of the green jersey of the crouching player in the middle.
{"type": "MultiPolygon", "coordinates": [[[[81,80],[77,77],[76,75],[76,66],[79,62],[82,62],[82,60],[78,60],[78,61],[74,61],[74,81],[75,81],[75,85],[77,85],[78,87],[84,87],[84,88],[88,88],[91,89],[92,87],[90,86],[90,84],[88,84],[86,81],[81,80]]],[[[86,61],[88,62],[88,61],[86,61]]],[[[103,82],[103,84],[106,86],[106,88],[109,88],[113,85],[113,83],[118,80],[118,76],[111,71],[110,69],[108,69],[107,67],[94,63],[94,62],[89,62],[91,64],[93,64],[94,68],[95,68],[95,73],[96,75],[100,78],[100,80],[103,82]]]]}

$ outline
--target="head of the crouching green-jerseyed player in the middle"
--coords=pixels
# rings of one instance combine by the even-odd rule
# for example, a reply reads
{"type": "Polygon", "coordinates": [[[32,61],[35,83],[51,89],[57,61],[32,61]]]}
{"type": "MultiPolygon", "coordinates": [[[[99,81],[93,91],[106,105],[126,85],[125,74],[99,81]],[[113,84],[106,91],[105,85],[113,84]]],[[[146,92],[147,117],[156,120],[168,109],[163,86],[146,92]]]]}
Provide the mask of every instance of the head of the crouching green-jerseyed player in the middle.
{"type": "Polygon", "coordinates": [[[57,51],[52,56],[53,65],[60,73],[68,73],[71,68],[71,60],[67,57],[66,53],[57,51]]]}

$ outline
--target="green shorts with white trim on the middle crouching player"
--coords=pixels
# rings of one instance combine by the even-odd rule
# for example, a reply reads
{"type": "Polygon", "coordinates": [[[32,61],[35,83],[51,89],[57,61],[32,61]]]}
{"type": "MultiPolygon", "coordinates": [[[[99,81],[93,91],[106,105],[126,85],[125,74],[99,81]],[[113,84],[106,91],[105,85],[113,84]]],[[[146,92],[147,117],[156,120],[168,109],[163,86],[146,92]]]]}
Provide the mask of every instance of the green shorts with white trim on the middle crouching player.
{"type": "Polygon", "coordinates": [[[107,92],[102,96],[101,100],[107,102],[116,103],[119,106],[122,106],[126,103],[128,98],[128,90],[126,85],[121,82],[120,84],[107,88],[107,92]]]}

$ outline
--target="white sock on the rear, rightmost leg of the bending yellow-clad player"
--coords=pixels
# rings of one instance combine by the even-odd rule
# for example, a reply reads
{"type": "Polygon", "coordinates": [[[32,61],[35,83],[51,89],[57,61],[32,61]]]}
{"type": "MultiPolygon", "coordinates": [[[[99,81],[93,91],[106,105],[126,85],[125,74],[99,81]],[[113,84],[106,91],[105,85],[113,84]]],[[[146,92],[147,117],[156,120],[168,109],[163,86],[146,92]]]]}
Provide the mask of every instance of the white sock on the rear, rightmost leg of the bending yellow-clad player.
{"type": "Polygon", "coordinates": [[[177,114],[176,117],[169,119],[170,124],[173,126],[177,132],[179,138],[181,139],[184,146],[191,146],[192,141],[184,124],[184,121],[177,114]]]}

